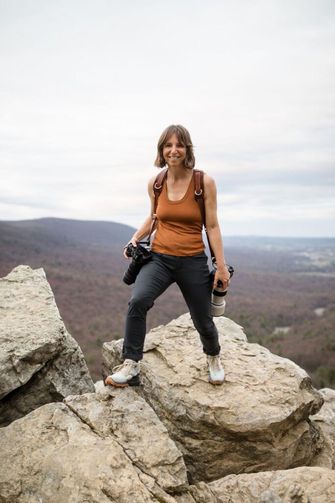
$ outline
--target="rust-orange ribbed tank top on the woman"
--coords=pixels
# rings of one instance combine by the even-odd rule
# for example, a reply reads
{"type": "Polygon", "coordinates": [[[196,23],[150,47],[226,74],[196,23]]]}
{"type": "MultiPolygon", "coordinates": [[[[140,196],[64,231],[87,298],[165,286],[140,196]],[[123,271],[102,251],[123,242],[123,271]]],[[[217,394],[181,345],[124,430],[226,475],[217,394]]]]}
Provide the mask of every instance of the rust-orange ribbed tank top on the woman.
{"type": "Polygon", "coordinates": [[[170,201],[166,193],[165,179],[158,198],[158,227],[151,249],[179,257],[196,255],[205,249],[201,212],[194,199],[194,191],[195,182],[192,176],[184,197],[179,201],[170,201]]]}

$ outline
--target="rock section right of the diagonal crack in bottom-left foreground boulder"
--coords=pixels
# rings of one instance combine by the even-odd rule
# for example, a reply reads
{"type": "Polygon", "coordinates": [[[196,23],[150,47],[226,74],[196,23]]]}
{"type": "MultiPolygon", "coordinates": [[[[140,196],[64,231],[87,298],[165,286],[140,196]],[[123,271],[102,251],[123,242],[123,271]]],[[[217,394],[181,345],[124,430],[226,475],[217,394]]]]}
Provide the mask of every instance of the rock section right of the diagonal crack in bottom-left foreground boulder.
{"type": "Polygon", "coordinates": [[[113,437],[132,462],[167,492],[188,488],[181,452],[146,401],[133,388],[108,386],[64,403],[101,438],[113,437]]]}

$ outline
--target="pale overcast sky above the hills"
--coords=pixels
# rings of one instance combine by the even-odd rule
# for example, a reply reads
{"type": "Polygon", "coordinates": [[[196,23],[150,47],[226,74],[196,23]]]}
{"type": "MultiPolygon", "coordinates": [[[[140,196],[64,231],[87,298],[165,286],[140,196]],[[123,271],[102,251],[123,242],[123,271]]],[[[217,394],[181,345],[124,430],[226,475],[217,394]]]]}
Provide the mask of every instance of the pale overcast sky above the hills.
{"type": "Polygon", "coordinates": [[[158,139],[182,124],[222,236],[335,236],[333,0],[0,9],[0,220],[139,228],[158,139]]]}

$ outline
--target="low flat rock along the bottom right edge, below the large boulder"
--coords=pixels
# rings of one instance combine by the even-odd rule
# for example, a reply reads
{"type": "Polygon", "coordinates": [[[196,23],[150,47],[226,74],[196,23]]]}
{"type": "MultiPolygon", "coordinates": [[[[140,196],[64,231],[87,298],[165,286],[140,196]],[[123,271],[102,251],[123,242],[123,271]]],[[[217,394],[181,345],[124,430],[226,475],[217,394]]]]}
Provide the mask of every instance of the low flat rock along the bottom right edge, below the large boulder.
{"type": "Polygon", "coordinates": [[[178,503],[331,503],[335,501],[335,472],[299,467],[228,475],[208,484],[191,485],[178,503]]]}

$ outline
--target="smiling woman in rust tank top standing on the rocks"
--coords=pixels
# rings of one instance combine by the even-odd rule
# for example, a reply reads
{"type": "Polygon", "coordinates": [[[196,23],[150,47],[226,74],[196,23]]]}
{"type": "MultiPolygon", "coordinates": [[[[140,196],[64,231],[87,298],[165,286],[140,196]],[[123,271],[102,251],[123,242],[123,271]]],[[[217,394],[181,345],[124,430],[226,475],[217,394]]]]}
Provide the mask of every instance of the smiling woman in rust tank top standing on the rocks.
{"type": "MultiPolygon", "coordinates": [[[[217,265],[212,283],[202,240],[200,208],[194,199],[195,158],[188,131],[180,125],[167,127],[158,141],[157,151],[155,166],[162,168],[167,164],[168,172],[158,199],[158,225],[155,224],[157,230],[151,244],[153,258],[142,266],[129,302],[122,349],[125,361],[113,369],[114,373],[106,378],[105,384],[122,387],[140,384],[139,362],[143,358],[147,311],[154,305],[154,300],[174,282],[179,286],[193,324],[199,332],[203,352],[207,356],[209,382],[222,384],[225,372],[220,362],[217,328],[211,315],[211,291],[218,280],[223,283],[222,288],[226,289],[230,274],[224,259],[216,215],[215,182],[204,174],[206,228],[217,265]]],[[[148,183],[150,216],[129,241],[133,246],[150,232],[155,179],[156,175],[148,183]]],[[[126,250],[124,256],[129,260],[126,250]]]]}

